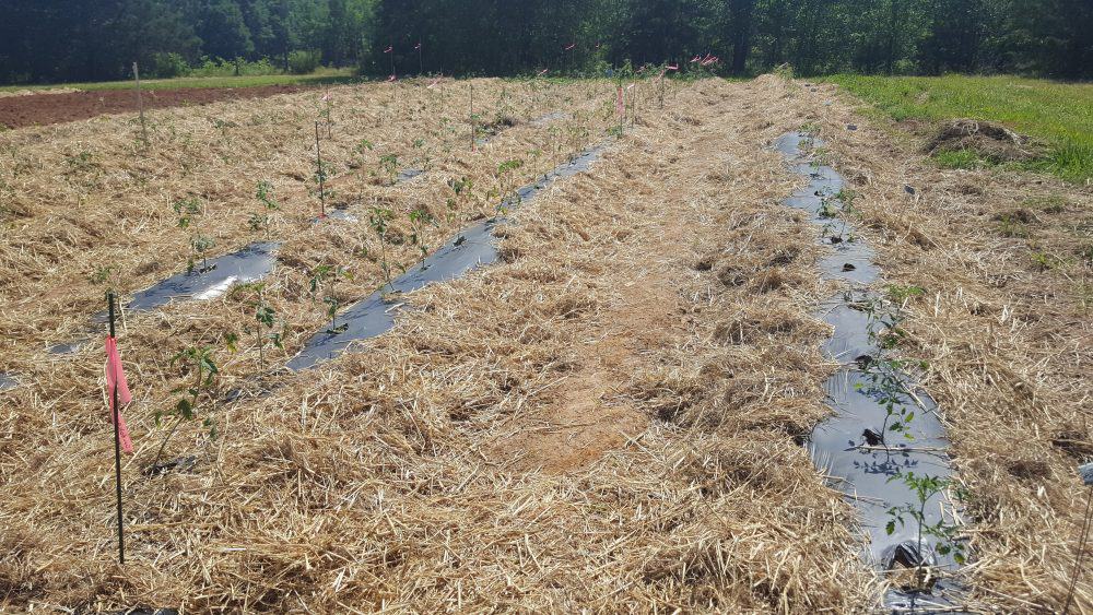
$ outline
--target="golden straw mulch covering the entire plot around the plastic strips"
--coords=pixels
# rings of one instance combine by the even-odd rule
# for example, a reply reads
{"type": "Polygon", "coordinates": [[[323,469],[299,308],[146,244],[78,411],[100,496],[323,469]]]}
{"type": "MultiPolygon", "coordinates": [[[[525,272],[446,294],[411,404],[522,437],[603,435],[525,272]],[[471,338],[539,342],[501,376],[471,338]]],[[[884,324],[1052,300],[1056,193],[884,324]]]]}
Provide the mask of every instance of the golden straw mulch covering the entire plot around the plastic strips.
{"type": "MultiPolygon", "coordinates": [[[[906,174],[937,172],[897,168],[917,159],[913,147],[890,149],[871,130],[844,137],[838,123],[851,111],[822,106],[831,92],[705,81],[672,87],[662,110],[655,87],[638,92],[633,131],[502,230],[503,263],[406,297],[410,312],[393,331],[299,375],[275,367],[324,326],[308,271],[349,268],[352,280],[334,291],[344,303],[381,281],[379,244],[363,222],[309,222],[321,94],[153,113],[146,154],[130,118],[4,134],[0,369],[22,386],[0,402],[0,607],[869,608],[879,588],[859,561],[853,510],[797,443],[825,412],[820,383],[834,366],[818,352],[824,331],[810,314],[833,288],[814,271],[815,230],[779,204],[799,180],[765,145],[806,122],[832,134],[848,177],[866,178],[859,204],[890,239],[874,241],[889,277],[925,276],[930,288],[930,303],[913,306],[914,350],[935,366],[928,385],[979,502],[975,599],[1013,611],[1057,604],[1081,496],[1063,478],[1074,447],[1089,442],[1079,421],[1089,382],[1065,354],[1050,382],[1018,379],[1046,374],[1050,357],[1031,348],[1050,335],[1012,338],[1034,328],[1010,320],[976,339],[967,310],[951,320],[932,310],[935,293],[956,305],[961,280],[965,298],[1009,305],[1015,318],[1012,291],[976,277],[997,243],[964,243],[979,228],[960,221],[966,212],[941,226],[925,196],[905,203],[906,174]],[[283,319],[286,351],[263,370],[250,336],[236,353],[224,348],[226,333],[252,321],[248,294],[127,316],[138,451],[126,463],[131,561],[119,567],[102,351],[97,341],[73,357],[45,348],[81,335],[99,309],[104,287],[89,277],[104,262],[119,267],[111,282],[124,293],[184,267],[174,200],[200,199],[218,253],[255,239],[246,216],[258,211],[259,180],[284,205],[273,229],[286,241],[282,264],[263,297],[283,319]],[[945,259],[957,257],[966,282],[949,271],[945,259]],[[221,435],[186,424],[166,457],[196,464],[145,476],[166,430],[153,415],[187,377],[171,357],[202,344],[218,347],[222,366],[201,409],[221,435]],[[969,356],[980,367],[962,363],[969,356]],[[1037,393],[1002,423],[1018,382],[1037,393]],[[986,429],[991,421],[1004,428],[986,429]],[[1066,450],[1051,443],[1063,423],[1059,441],[1077,442],[1066,450]],[[1013,442],[1039,447],[1026,457],[1060,480],[991,461],[1025,454],[1013,442]]],[[[613,122],[609,83],[477,80],[482,123],[517,121],[470,153],[469,93],[466,82],[330,90],[324,149],[334,200],[390,208],[396,236],[409,233],[410,211],[428,208],[440,221],[436,245],[613,122]],[[529,121],[559,109],[568,119],[529,121]],[[357,147],[364,139],[373,149],[357,147]],[[379,158],[389,153],[430,173],[388,186],[379,158]],[[498,177],[514,158],[527,164],[498,177]],[[474,189],[457,198],[448,180],[463,177],[474,189]]],[[[410,263],[415,250],[396,246],[395,258],[410,263]]],[[[989,329],[999,315],[987,309],[973,322],[989,329]]],[[[1038,322],[1062,327],[1056,340],[1089,333],[1088,321],[1038,322]]],[[[1080,601],[1089,608],[1088,586],[1080,601]]]]}

